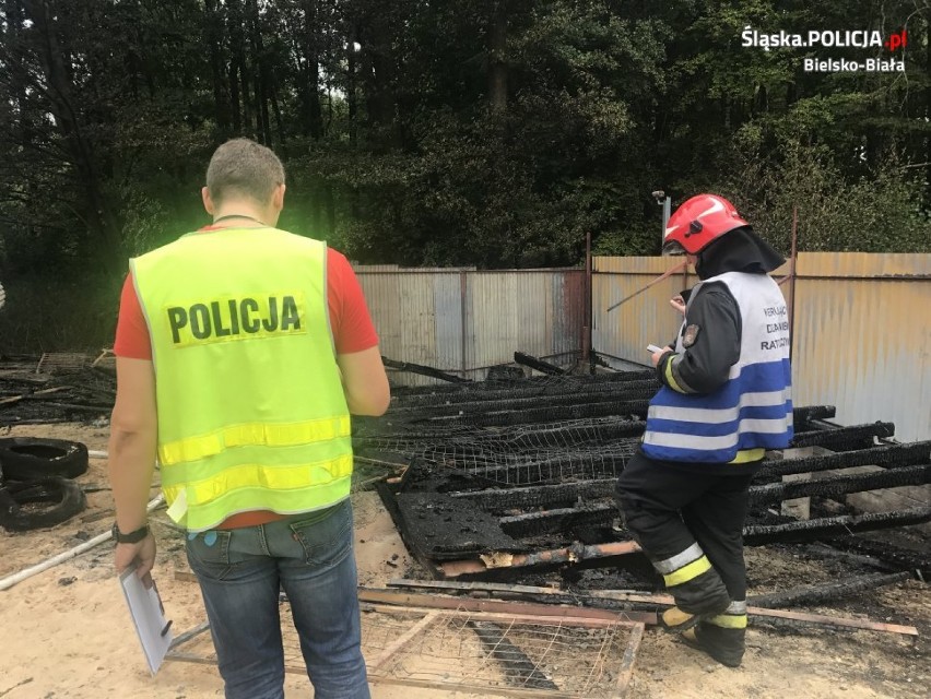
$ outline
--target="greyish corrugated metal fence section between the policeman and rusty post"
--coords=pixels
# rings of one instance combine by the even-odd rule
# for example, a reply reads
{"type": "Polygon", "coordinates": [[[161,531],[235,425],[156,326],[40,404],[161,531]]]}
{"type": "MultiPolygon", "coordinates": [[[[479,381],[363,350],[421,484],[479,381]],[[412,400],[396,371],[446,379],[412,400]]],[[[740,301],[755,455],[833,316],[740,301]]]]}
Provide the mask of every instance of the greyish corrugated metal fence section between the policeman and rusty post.
{"type": "MultiPolygon", "coordinates": [[[[515,351],[567,364],[580,352],[585,272],[355,268],[381,354],[472,379],[515,351]]],[[[435,382],[411,374],[405,384],[435,382]]]]}

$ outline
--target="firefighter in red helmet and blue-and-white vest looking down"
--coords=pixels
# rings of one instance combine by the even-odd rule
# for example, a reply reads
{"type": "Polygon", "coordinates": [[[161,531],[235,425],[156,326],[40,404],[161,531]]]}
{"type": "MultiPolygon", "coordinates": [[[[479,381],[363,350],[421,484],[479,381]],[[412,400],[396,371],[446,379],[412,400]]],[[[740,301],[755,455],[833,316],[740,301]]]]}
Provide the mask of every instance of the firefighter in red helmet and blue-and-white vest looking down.
{"type": "Polygon", "coordinates": [[[662,626],[736,667],[747,488],[765,450],[792,439],[786,299],[768,275],[785,259],[715,194],[676,210],[663,251],[685,253],[700,281],[674,346],[652,355],[662,386],[617,502],[675,600],[662,626]]]}

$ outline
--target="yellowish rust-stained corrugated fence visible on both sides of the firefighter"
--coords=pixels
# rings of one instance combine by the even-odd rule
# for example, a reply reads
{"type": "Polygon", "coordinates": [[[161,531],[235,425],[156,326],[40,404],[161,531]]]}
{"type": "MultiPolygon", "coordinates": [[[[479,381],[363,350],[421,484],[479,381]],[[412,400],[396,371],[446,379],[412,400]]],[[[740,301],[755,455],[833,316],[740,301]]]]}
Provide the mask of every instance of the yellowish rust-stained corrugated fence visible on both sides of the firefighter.
{"type": "MultiPolygon", "coordinates": [[[[669,306],[694,273],[674,274],[615,310],[681,258],[594,258],[592,346],[648,364],[646,346],[667,344],[681,317],[669,306]]],[[[783,265],[774,273],[789,272],[783,265]]],[[[802,252],[783,293],[794,307],[797,404],[837,406],[847,425],[892,420],[903,441],[931,438],[931,254],[802,252]]]]}

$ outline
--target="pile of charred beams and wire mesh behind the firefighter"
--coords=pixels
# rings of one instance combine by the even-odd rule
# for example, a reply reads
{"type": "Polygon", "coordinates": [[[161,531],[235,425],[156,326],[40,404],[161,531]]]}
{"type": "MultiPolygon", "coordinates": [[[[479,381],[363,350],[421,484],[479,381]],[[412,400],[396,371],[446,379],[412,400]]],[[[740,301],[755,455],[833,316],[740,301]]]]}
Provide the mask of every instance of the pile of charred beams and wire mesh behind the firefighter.
{"type": "MultiPolygon", "coordinates": [[[[588,570],[591,579],[601,568],[620,570],[626,587],[656,588],[613,499],[658,389],[653,372],[492,376],[396,389],[386,416],[355,420],[358,457],[405,466],[379,488],[412,554],[436,578],[588,570]]],[[[767,454],[752,486],[745,543],[816,543],[824,556],[868,559],[872,572],[931,572],[923,535],[900,530],[931,521],[927,499],[899,498],[879,512],[847,501],[931,482],[931,441],[897,443],[891,423],[840,427],[834,416],[829,405],[796,408],[793,448],[767,454]],[[921,541],[900,548],[858,535],[880,530],[921,541]]]]}

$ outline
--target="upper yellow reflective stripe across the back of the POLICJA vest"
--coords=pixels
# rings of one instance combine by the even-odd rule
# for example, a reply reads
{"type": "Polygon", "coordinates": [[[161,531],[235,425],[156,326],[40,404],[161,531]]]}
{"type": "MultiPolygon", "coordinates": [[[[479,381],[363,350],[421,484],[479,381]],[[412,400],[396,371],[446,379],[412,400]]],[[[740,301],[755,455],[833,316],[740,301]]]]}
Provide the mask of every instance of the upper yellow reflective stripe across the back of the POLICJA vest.
{"type": "Polygon", "coordinates": [[[163,466],[200,461],[234,447],[296,447],[349,437],[349,416],[310,419],[300,423],[246,423],[223,427],[207,435],[169,441],[158,447],[163,466]]]}

